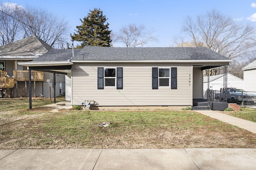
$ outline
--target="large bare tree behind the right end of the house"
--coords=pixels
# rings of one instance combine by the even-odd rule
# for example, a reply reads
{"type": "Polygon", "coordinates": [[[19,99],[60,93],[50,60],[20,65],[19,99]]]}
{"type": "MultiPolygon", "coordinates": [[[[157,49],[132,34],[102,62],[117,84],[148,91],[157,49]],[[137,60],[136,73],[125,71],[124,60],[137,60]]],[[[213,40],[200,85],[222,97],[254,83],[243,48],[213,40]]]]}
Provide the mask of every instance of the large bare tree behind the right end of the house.
{"type": "MultiPolygon", "coordinates": [[[[189,40],[178,37],[176,44],[207,47],[229,59],[248,59],[255,56],[256,29],[250,24],[241,24],[230,16],[216,10],[198,16],[196,20],[187,17],[182,31],[189,40]]],[[[213,75],[218,72],[214,69],[213,75]]]]}

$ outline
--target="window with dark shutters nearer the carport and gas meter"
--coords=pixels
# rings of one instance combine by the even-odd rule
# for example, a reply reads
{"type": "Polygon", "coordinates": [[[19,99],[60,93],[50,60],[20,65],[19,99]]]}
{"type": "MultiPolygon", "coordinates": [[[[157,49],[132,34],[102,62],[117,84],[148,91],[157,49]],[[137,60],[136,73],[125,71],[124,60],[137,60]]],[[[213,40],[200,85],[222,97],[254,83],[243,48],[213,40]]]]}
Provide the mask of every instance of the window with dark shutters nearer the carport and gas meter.
{"type": "Polygon", "coordinates": [[[98,67],[98,89],[104,87],[116,87],[123,89],[123,68],[98,67]]]}

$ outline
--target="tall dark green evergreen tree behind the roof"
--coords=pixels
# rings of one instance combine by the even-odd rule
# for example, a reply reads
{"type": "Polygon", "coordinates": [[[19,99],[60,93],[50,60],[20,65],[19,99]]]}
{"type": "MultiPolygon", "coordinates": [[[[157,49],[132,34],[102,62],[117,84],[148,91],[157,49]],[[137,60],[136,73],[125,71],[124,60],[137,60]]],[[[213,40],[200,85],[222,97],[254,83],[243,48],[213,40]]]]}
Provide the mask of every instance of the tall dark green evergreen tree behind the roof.
{"type": "Polygon", "coordinates": [[[76,26],[77,31],[71,36],[72,41],[80,41],[81,45],[76,48],[83,48],[84,46],[99,46],[99,47],[110,47],[111,30],[108,30],[109,23],[106,23],[106,16],[100,9],[94,8],[90,10],[87,17],[83,20],[80,19],[82,25],[76,26]]]}

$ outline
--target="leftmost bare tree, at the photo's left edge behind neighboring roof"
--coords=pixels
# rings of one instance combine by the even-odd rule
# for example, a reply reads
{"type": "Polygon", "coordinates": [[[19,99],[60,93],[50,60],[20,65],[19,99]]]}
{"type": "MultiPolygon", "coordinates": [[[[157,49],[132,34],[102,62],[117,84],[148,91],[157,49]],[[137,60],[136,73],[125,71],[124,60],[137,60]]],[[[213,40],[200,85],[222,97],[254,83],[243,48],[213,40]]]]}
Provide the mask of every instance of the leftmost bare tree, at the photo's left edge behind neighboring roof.
{"type": "Polygon", "coordinates": [[[20,33],[20,22],[15,18],[20,19],[21,6],[4,2],[0,6],[0,45],[12,43],[17,39],[20,33]]]}

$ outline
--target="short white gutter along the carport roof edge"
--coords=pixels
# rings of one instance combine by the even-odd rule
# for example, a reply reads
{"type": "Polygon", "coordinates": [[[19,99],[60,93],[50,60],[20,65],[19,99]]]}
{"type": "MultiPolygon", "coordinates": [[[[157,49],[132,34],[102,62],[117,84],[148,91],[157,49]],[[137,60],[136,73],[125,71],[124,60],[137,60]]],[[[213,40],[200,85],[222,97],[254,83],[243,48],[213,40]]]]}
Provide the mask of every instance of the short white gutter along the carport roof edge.
{"type": "Polygon", "coordinates": [[[30,62],[18,62],[18,65],[22,66],[62,66],[62,65],[73,65],[70,61],[30,61],[30,62]]]}

